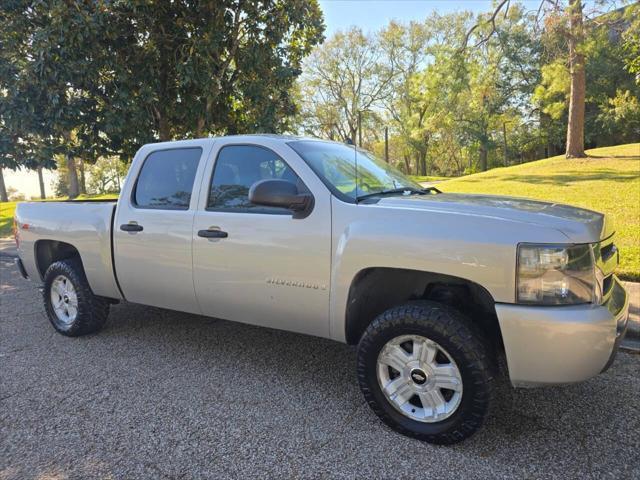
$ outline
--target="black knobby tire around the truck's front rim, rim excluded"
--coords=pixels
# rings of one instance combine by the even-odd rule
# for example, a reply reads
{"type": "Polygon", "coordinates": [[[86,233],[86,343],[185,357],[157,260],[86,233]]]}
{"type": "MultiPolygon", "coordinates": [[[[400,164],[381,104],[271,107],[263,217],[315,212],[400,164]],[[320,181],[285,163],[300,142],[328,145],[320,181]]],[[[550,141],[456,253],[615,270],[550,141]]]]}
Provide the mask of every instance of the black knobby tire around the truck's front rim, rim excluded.
{"type": "Polygon", "coordinates": [[[391,308],[378,316],[360,339],[360,388],[376,415],[397,432],[440,445],[460,442],[480,428],[491,403],[494,369],[486,345],[471,321],[446,305],[419,301],[391,308]],[[425,423],[409,418],[391,404],[380,387],[378,355],[387,342],[402,335],[436,342],[458,366],[463,386],[460,403],[442,421],[425,423]]]}

